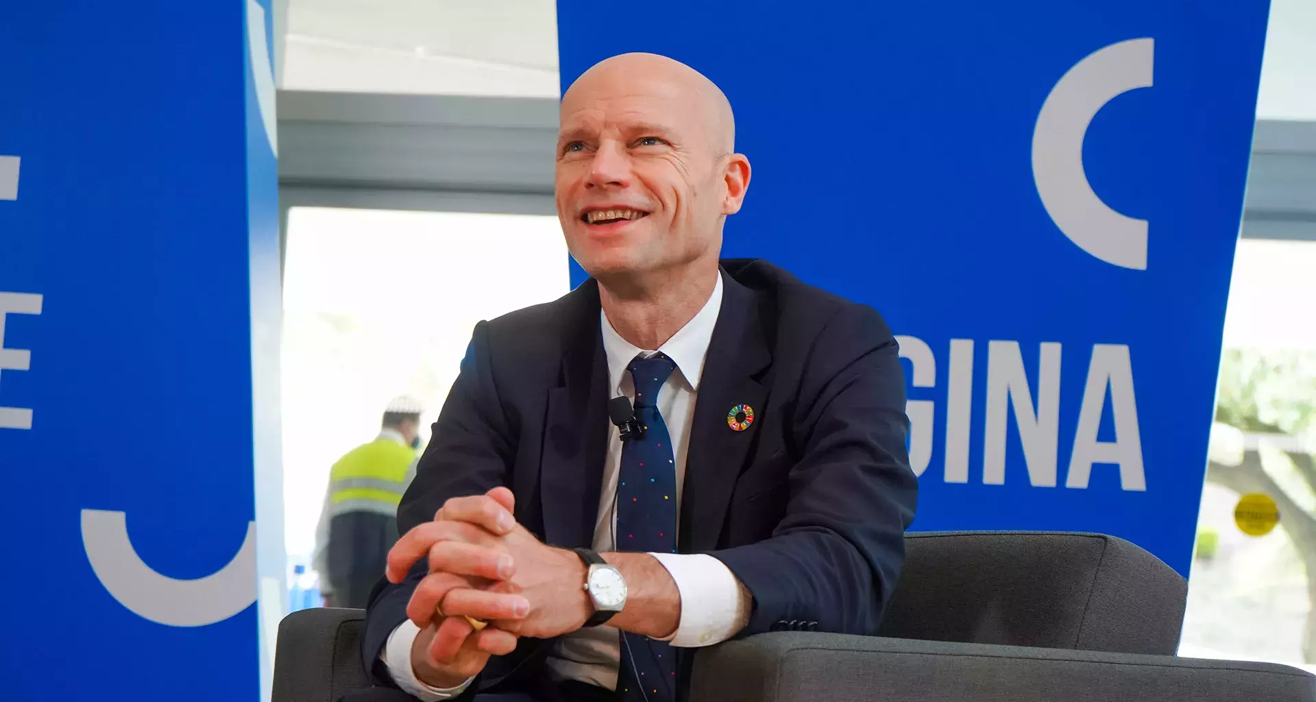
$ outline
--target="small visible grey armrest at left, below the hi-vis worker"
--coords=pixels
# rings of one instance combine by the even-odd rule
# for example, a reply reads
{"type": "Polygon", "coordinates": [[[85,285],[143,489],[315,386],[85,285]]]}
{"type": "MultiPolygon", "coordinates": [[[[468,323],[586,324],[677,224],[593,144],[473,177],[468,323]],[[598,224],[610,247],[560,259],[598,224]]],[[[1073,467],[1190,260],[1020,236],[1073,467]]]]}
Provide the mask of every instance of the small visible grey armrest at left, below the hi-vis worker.
{"type": "Polygon", "coordinates": [[[337,702],[368,688],[361,666],[365,610],[318,607],[279,622],[274,655],[272,702],[337,702]]]}

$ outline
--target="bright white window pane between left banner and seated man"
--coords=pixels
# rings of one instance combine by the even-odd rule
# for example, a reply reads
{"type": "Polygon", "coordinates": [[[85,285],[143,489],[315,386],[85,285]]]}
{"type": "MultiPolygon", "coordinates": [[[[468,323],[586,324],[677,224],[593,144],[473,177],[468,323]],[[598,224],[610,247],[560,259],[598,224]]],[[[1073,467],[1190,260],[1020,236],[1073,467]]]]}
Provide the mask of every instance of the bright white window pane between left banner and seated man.
{"type": "Polygon", "coordinates": [[[293,208],[287,230],[284,541],[309,562],[329,466],[400,394],[428,440],[471,328],[566,294],[567,250],[553,216],[293,208]]]}

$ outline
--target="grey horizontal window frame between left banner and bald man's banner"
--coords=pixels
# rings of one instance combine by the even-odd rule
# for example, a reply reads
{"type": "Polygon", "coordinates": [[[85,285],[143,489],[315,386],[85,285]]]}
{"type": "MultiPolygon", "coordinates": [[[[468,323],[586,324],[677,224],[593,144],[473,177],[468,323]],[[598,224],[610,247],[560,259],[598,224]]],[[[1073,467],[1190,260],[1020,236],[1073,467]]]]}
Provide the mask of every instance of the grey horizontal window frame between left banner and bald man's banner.
{"type": "Polygon", "coordinates": [[[554,215],[558,103],[279,91],[279,230],[293,207],[554,215]]]}

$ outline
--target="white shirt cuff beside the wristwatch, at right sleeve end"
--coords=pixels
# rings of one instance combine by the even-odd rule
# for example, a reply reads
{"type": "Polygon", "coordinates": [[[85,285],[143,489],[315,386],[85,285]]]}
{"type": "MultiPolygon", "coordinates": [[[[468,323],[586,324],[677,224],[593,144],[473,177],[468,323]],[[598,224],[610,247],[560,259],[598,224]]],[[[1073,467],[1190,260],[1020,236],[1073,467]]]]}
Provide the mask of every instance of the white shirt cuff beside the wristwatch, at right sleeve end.
{"type": "Polygon", "coordinates": [[[676,581],[680,623],[667,640],[696,648],[734,636],[749,623],[754,598],[726,564],[707,553],[650,553],[676,581]]]}

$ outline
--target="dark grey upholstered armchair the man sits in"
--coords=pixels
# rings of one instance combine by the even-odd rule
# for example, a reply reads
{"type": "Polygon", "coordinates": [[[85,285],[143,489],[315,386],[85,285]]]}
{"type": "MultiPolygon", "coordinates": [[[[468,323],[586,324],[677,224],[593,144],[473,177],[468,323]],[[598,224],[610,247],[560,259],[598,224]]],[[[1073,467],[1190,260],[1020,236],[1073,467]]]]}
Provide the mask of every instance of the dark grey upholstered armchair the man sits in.
{"type": "MultiPolygon", "coordinates": [[[[1187,583],[1128,541],[917,533],[879,636],[778,632],[699,655],[691,702],[1316,701],[1283,665],[1174,657],[1187,583]]],[[[361,610],[279,627],[274,702],[367,686],[361,610]]]]}

